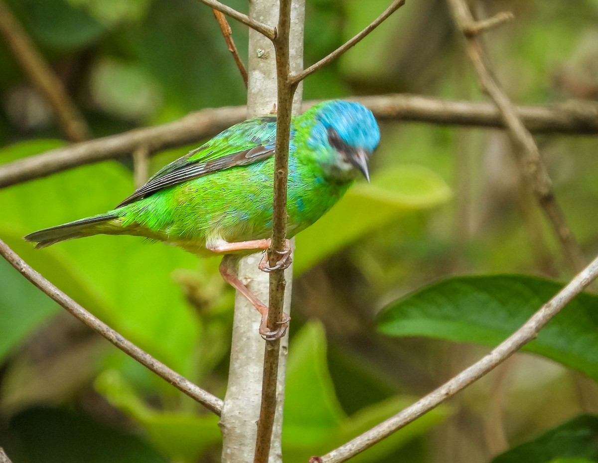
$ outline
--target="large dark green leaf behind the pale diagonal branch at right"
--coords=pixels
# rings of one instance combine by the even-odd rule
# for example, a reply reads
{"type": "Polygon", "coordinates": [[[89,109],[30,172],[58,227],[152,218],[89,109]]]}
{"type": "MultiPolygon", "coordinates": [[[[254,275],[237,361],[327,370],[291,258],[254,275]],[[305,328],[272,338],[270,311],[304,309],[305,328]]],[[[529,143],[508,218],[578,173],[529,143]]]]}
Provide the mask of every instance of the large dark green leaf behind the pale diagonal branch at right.
{"type": "MultiPolygon", "coordinates": [[[[391,336],[496,345],[562,287],[524,275],[451,278],[389,304],[378,327],[391,336]]],[[[598,297],[579,294],[523,349],[598,380],[598,297]]]]}

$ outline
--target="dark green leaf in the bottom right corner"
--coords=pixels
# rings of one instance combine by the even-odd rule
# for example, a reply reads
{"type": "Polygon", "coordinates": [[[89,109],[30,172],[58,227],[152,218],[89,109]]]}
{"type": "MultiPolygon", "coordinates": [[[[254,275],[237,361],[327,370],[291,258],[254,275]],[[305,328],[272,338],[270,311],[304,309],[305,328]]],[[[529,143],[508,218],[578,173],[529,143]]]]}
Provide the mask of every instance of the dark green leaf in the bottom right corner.
{"type": "Polygon", "coordinates": [[[598,416],[580,415],[526,443],[492,463],[585,463],[598,461],[598,416]]]}

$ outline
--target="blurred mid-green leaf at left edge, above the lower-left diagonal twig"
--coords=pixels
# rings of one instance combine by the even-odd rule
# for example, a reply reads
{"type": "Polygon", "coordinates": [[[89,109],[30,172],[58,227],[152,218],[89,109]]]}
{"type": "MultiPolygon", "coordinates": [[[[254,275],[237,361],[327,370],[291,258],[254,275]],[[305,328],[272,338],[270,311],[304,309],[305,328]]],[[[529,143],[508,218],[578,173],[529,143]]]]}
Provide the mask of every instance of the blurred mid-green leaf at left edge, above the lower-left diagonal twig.
{"type": "Polygon", "coordinates": [[[0,259],[0,363],[58,306],[0,259]]]}

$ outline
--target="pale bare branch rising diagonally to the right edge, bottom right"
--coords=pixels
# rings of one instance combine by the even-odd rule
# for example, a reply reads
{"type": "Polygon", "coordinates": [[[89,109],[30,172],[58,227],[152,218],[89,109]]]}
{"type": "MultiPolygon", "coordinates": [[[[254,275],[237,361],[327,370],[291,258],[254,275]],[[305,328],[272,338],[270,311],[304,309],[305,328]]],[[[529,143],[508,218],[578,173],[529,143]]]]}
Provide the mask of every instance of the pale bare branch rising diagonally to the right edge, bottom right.
{"type": "Polygon", "coordinates": [[[379,425],[364,432],[346,444],[332,450],[321,457],[312,458],[312,461],[321,463],[341,463],[363,452],[377,442],[388,437],[393,432],[400,430],[420,416],[434,409],[457,392],[462,391],[471,383],[489,373],[493,368],[507,360],[517,352],[523,345],[535,339],[538,331],[544,327],[566,304],[584,290],[598,276],[598,257],[590,265],[585,267],[565,288],[559,291],[556,296],[545,303],[538,312],[534,313],[521,327],[496,346],[489,354],[478,360],[476,363],[461,371],[452,379],[439,388],[432,391],[425,397],[420,398],[416,403],[383,421],[379,425]]]}

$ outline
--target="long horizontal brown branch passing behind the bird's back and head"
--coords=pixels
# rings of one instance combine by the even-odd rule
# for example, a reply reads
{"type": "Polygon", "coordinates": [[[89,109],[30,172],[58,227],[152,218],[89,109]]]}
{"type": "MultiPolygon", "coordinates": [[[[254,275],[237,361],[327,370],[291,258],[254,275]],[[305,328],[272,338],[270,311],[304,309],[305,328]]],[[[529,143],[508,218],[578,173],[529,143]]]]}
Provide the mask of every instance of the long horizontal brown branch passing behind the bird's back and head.
{"type": "MultiPolygon", "coordinates": [[[[505,122],[493,103],[442,100],[418,95],[377,95],[352,98],[370,108],[379,120],[426,122],[441,125],[502,129],[505,122]]],[[[305,102],[305,111],[317,101],[305,102]]],[[[561,103],[551,106],[517,106],[517,115],[534,133],[598,134],[598,104],[561,103]]],[[[130,156],[139,145],[149,153],[197,142],[245,118],[245,106],[202,109],[184,118],[155,127],[46,151],[0,166],[0,188],[120,156],[130,156]]]]}

